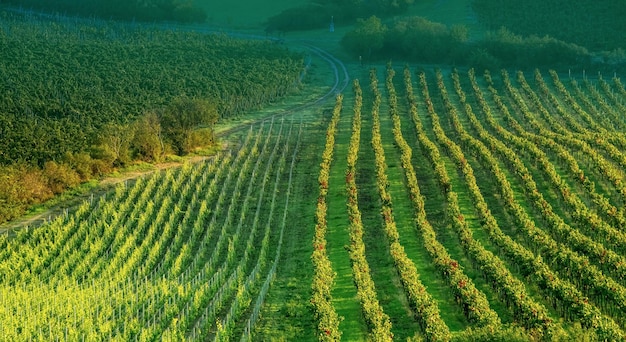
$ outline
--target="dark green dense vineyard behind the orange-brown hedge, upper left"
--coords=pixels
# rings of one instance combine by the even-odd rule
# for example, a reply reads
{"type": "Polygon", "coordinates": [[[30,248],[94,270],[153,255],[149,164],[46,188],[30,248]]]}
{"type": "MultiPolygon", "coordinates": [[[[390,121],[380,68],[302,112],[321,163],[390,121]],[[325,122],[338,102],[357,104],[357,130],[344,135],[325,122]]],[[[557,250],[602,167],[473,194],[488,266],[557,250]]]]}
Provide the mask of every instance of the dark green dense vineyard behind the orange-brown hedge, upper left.
{"type": "Polygon", "coordinates": [[[304,67],[268,40],[31,13],[0,13],[0,47],[1,165],[90,152],[181,96],[233,119],[293,92],[304,67]]]}

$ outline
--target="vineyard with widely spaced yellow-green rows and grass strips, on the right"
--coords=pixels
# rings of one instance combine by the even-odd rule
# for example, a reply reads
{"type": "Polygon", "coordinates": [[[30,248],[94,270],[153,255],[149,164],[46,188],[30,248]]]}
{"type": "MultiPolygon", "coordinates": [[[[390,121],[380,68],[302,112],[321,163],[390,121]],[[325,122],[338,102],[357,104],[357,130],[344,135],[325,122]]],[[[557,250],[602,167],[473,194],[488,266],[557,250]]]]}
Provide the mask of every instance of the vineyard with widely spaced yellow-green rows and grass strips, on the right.
{"type": "Polygon", "coordinates": [[[319,340],[622,340],[620,80],[397,71],[328,125],[319,340]]]}

